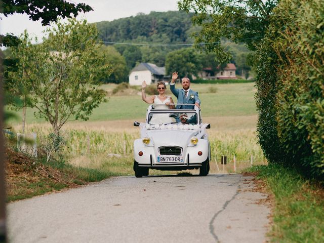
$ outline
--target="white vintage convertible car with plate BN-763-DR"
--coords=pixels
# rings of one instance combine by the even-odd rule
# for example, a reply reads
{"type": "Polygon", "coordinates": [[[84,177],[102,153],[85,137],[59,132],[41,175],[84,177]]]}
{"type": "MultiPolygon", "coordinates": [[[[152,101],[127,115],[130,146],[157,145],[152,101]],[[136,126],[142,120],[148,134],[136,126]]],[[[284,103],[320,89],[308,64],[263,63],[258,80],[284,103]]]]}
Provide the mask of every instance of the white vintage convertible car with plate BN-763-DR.
{"type": "Polygon", "coordinates": [[[149,169],[179,171],[199,169],[200,176],[209,173],[211,157],[206,129],[200,108],[158,109],[150,105],[146,122],[140,127],[141,138],[134,141],[136,177],[148,175],[149,169]]]}

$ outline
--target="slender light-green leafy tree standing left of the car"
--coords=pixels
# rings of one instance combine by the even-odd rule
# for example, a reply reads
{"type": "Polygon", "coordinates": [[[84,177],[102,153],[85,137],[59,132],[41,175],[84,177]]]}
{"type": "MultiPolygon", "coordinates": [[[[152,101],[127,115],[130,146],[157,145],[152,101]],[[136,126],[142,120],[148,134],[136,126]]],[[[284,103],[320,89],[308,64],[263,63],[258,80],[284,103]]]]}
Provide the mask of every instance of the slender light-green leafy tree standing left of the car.
{"type": "Polygon", "coordinates": [[[47,33],[42,44],[32,45],[25,32],[21,44],[12,48],[18,70],[8,75],[30,94],[29,106],[38,110],[35,115],[48,120],[59,134],[70,116],[87,120],[105,100],[97,85],[111,70],[96,45],[95,25],[69,19],[65,24],[58,21],[47,33]]]}

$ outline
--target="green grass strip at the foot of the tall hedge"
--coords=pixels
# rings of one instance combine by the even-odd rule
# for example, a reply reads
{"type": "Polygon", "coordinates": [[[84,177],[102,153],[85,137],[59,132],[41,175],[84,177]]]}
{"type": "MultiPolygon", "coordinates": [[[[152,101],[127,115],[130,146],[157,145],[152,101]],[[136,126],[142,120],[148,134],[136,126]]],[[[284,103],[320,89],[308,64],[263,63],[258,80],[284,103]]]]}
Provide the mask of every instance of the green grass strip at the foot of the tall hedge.
{"type": "Polygon", "coordinates": [[[294,169],[270,164],[246,170],[258,173],[275,197],[272,242],[324,242],[323,184],[294,169]]]}

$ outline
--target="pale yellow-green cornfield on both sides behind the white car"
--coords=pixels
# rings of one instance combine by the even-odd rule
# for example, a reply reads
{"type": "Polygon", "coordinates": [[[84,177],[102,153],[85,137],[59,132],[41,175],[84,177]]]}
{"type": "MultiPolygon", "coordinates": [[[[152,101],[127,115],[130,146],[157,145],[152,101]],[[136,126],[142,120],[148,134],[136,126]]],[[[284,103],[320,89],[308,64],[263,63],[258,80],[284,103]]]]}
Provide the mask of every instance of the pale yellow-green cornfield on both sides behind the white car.
{"type": "MultiPolygon", "coordinates": [[[[28,131],[36,133],[38,141],[42,141],[41,138],[46,137],[51,132],[51,128],[38,124],[29,126],[28,131]]],[[[208,132],[212,156],[210,173],[221,172],[220,158],[222,155],[227,156],[224,172],[234,172],[232,165],[234,155],[238,169],[236,172],[251,165],[251,155],[254,165],[267,163],[257,144],[255,130],[210,130],[208,132]]],[[[140,137],[139,130],[69,128],[62,130],[61,135],[67,142],[63,153],[68,163],[74,166],[109,170],[117,175],[133,174],[133,142],[140,137]]],[[[154,170],[151,173],[168,174],[170,172],[154,170]]]]}

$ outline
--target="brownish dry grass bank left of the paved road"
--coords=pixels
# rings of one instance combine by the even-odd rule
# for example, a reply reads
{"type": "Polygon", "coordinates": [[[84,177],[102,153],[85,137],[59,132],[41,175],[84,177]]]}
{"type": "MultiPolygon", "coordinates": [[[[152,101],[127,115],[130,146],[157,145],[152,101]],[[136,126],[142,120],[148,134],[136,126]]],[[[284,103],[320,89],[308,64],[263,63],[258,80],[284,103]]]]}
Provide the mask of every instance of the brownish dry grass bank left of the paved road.
{"type": "Polygon", "coordinates": [[[10,148],[6,149],[7,201],[15,201],[101,181],[112,173],[98,169],[74,167],[60,161],[45,163],[10,148]]]}

